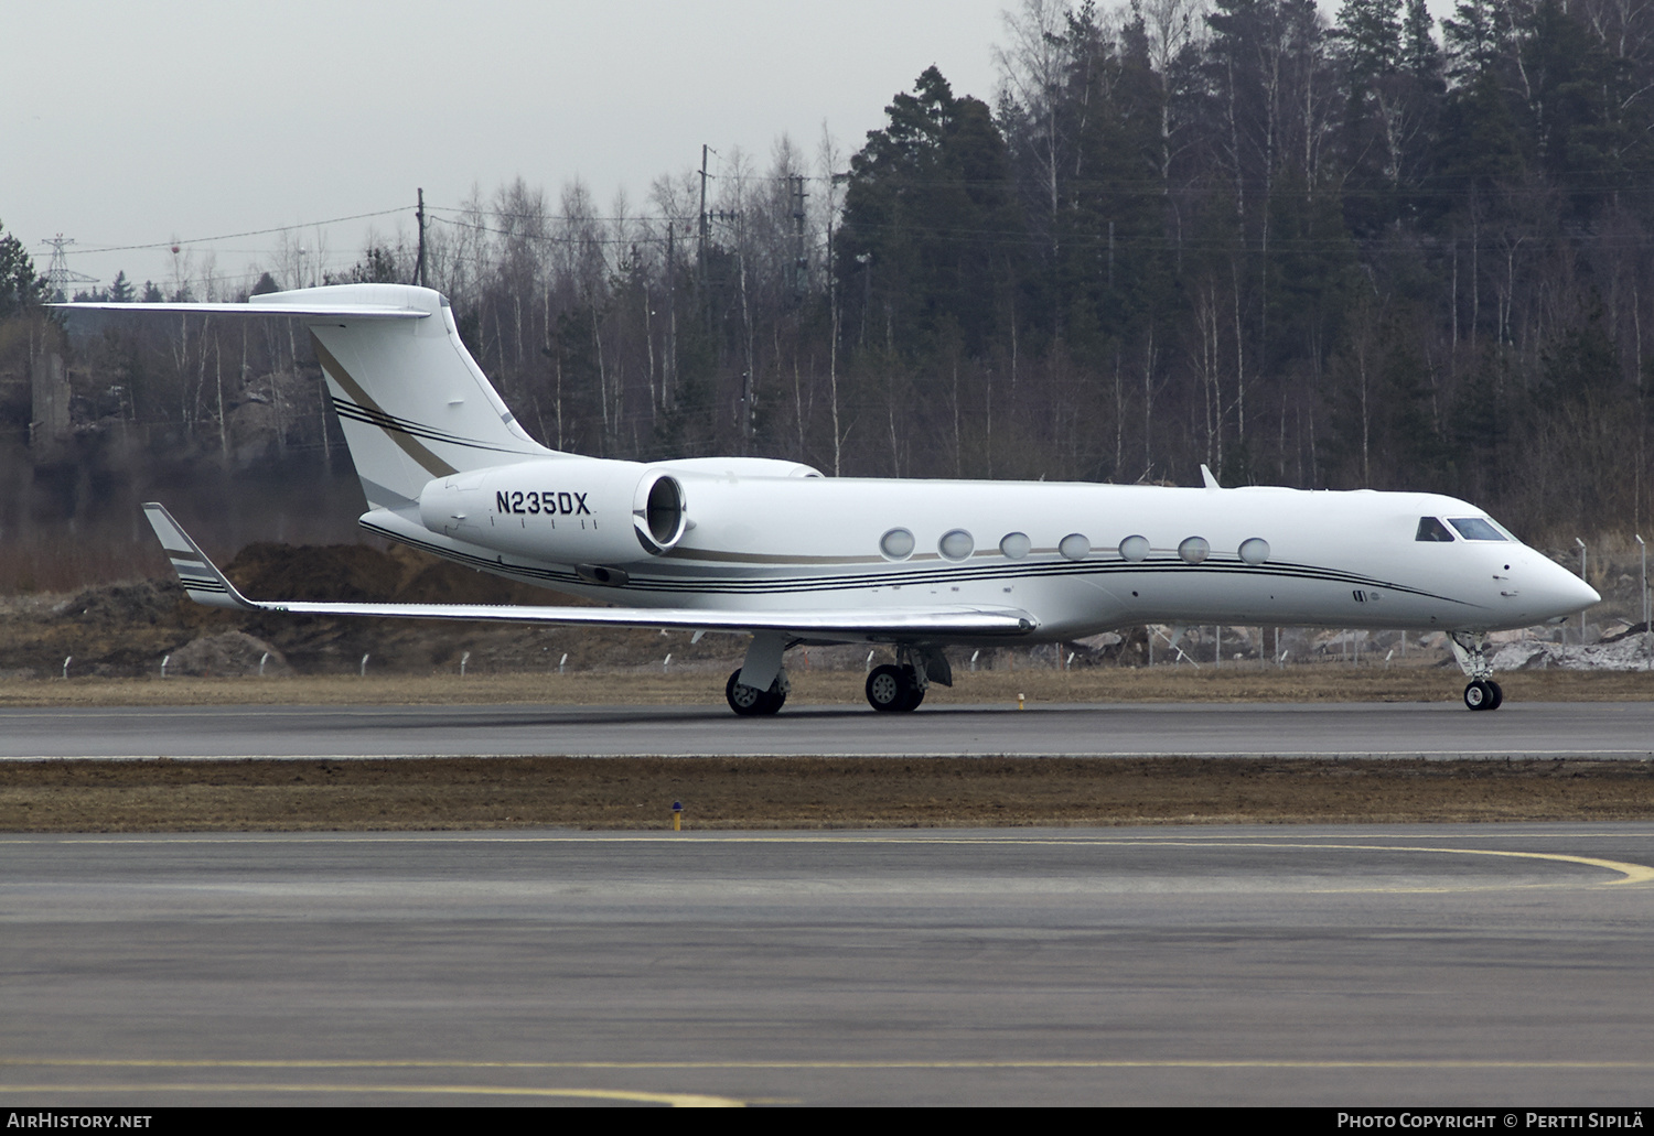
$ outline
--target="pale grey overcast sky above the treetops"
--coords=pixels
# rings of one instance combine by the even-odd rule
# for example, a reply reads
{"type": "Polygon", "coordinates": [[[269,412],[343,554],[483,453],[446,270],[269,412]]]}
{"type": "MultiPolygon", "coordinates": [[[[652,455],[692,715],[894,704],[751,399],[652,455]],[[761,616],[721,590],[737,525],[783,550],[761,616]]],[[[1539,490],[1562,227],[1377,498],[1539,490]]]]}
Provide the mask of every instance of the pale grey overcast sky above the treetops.
{"type": "MultiPolygon", "coordinates": [[[[240,0],[8,5],[0,225],[108,283],[172,273],[170,243],[405,208],[324,233],[334,266],[367,225],[412,231],[415,187],[457,205],[521,175],[554,203],[582,179],[607,212],[700,164],[762,167],[781,134],[849,155],[931,63],[992,99],[1007,0],[240,0]]],[[[309,230],[308,230],[309,231],[309,230]]],[[[222,273],[278,235],[197,245],[222,273]]],[[[306,243],[311,240],[306,236],[306,243]]]]}

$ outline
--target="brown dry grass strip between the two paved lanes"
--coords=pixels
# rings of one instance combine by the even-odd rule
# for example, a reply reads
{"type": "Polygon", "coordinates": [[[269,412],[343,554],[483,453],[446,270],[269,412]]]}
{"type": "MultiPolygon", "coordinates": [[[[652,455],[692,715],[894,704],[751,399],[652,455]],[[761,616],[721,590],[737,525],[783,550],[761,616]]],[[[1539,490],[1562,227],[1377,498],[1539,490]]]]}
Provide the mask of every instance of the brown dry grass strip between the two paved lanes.
{"type": "Polygon", "coordinates": [[[1654,819],[1649,761],[466,757],[0,766],[7,832],[1654,819]]]}

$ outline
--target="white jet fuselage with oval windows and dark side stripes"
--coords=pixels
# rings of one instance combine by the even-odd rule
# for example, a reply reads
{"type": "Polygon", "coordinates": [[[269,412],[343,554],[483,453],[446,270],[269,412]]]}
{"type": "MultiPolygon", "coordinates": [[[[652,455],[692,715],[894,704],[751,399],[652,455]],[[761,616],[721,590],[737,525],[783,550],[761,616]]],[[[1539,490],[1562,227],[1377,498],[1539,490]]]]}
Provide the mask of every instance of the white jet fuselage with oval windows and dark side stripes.
{"type": "MultiPolygon", "coordinates": [[[[417,527],[385,511],[364,524],[597,600],[1001,605],[1037,618],[1030,642],[1136,623],[1497,630],[1598,599],[1475,506],[1439,494],[820,478],[741,463],[792,473],[753,476],[708,468],[716,465],[498,466],[475,471],[475,488],[458,496],[433,481],[417,527]],[[637,531],[647,531],[645,489],[662,475],[676,486],[681,524],[652,554],[637,531]],[[461,498],[466,506],[453,504],[461,498]],[[1426,518],[1449,539],[1419,539],[1426,518]],[[1470,519],[1484,539],[1451,527],[1470,519]]],[[[672,518],[657,527],[672,529],[672,518]]]]}

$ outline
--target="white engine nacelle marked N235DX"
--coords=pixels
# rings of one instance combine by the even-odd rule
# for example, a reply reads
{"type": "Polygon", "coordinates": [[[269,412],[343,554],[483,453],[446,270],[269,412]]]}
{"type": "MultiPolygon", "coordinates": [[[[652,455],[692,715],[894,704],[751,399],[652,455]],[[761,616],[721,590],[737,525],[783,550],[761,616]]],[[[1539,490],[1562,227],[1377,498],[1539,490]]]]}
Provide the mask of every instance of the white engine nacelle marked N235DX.
{"type": "Polygon", "coordinates": [[[635,461],[554,458],[435,478],[418,494],[432,532],[556,564],[660,556],[688,527],[683,484],[635,461]]]}

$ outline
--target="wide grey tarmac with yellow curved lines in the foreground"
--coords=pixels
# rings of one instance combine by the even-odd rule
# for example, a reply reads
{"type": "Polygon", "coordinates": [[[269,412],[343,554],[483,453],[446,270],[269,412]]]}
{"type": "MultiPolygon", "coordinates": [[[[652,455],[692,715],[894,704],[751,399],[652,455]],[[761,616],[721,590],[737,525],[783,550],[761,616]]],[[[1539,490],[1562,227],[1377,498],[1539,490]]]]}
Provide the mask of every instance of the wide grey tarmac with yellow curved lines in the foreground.
{"type": "Polygon", "coordinates": [[[0,837],[0,1101],[1576,1105],[1654,825],[0,837]]]}

